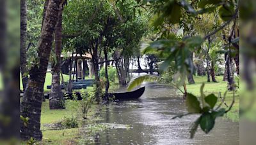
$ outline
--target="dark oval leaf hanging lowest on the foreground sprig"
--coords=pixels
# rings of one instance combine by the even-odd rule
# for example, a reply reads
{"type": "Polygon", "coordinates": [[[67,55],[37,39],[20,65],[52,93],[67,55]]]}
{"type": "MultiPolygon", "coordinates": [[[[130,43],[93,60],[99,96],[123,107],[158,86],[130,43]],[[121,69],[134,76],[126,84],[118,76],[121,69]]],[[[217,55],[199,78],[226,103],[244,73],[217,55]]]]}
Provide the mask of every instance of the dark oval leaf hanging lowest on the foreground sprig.
{"type": "Polygon", "coordinates": [[[214,123],[215,118],[213,118],[210,113],[202,114],[200,120],[200,127],[206,134],[208,134],[212,130],[212,128],[214,127],[214,123]]]}

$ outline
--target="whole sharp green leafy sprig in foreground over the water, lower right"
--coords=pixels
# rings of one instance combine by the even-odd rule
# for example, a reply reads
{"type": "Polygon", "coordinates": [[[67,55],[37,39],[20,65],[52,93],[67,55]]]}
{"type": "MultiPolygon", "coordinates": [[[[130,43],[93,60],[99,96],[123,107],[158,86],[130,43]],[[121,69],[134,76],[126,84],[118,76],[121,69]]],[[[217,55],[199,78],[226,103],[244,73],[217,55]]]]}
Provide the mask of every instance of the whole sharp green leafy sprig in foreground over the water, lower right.
{"type": "MultiPolygon", "coordinates": [[[[194,137],[199,125],[200,125],[200,128],[205,132],[205,134],[208,134],[214,127],[216,118],[223,116],[225,113],[228,113],[228,111],[230,111],[230,109],[234,104],[234,93],[233,93],[232,104],[230,105],[230,107],[228,107],[227,110],[225,108],[220,108],[220,106],[215,107],[218,97],[216,97],[213,93],[205,96],[203,90],[204,90],[204,83],[202,84],[200,89],[200,92],[201,92],[200,97],[202,99],[201,102],[198,100],[198,97],[196,97],[192,93],[188,93],[188,96],[186,98],[186,106],[187,106],[188,113],[179,114],[172,118],[172,119],[182,118],[182,116],[186,116],[188,114],[200,114],[200,116],[196,119],[196,121],[194,121],[192,125],[189,127],[191,139],[194,137]]],[[[226,94],[227,93],[224,94],[224,97],[226,94]]]]}

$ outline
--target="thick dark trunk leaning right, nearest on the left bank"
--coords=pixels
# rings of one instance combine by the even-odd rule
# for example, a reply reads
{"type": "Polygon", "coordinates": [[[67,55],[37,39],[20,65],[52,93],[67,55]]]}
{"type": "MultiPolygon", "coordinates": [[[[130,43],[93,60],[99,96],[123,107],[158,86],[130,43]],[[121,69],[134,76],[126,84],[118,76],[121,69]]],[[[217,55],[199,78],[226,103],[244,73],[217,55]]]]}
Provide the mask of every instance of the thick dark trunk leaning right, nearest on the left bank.
{"type": "Polygon", "coordinates": [[[20,137],[28,140],[33,137],[42,139],[40,131],[40,117],[42,97],[44,96],[44,82],[49,56],[52,48],[52,39],[58,21],[58,12],[62,0],[51,0],[46,11],[44,25],[38,43],[39,62],[31,67],[29,80],[20,104],[20,115],[29,118],[27,125],[20,120],[20,137]]]}

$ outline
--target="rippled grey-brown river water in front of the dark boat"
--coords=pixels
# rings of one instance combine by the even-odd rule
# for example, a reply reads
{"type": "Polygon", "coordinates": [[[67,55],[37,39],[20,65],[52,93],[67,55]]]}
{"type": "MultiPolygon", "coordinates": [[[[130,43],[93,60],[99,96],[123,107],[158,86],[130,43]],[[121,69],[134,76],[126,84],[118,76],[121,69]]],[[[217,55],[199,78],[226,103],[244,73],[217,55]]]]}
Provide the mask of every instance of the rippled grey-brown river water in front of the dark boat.
{"type": "Polygon", "coordinates": [[[189,139],[189,126],[198,116],[186,116],[184,100],[172,88],[146,85],[138,100],[113,102],[103,108],[102,123],[129,125],[97,134],[95,144],[239,144],[239,123],[219,118],[214,129],[204,134],[200,128],[194,139],[189,139]]]}

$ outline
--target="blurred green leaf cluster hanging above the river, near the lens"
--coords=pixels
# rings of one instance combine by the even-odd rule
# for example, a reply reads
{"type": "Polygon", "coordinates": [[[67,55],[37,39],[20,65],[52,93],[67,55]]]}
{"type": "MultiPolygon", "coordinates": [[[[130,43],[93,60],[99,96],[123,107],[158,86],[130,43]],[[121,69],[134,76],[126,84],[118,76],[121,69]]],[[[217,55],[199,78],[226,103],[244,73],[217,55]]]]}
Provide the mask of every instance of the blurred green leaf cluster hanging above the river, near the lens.
{"type": "Polygon", "coordinates": [[[200,48],[203,43],[200,36],[193,36],[191,38],[184,37],[182,39],[173,35],[170,39],[161,39],[149,43],[149,46],[143,48],[142,53],[156,53],[159,57],[166,58],[159,66],[159,69],[166,71],[170,64],[174,62],[176,74],[180,74],[180,82],[184,82],[187,73],[195,72],[195,66],[191,59],[191,53],[195,49],[200,48]]]}

